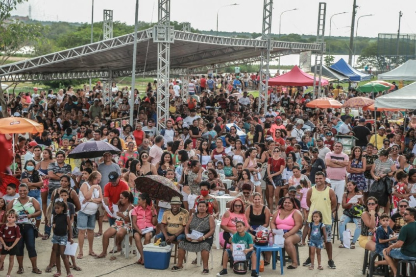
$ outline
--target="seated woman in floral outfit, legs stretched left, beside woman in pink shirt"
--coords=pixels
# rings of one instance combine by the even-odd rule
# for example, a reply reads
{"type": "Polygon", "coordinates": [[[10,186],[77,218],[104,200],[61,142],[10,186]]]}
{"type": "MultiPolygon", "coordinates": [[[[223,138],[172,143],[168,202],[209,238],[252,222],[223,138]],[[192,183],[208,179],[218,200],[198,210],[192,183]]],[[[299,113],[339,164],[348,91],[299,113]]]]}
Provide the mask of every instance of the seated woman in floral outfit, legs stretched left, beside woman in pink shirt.
{"type": "MultiPolygon", "coordinates": [[[[102,252],[96,258],[103,258],[107,255],[107,248],[110,241],[110,237],[114,236],[117,245],[117,252],[122,251],[122,241],[126,235],[128,235],[131,229],[130,217],[128,213],[133,207],[133,194],[128,191],[122,191],[120,194],[120,200],[117,205],[119,206],[119,211],[117,212],[117,216],[120,219],[116,220],[116,224],[111,225],[103,234],[102,234],[102,252]]],[[[112,252],[110,252],[112,253],[112,252]]],[[[115,260],[116,257],[113,256],[110,260],[115,260]]]]}

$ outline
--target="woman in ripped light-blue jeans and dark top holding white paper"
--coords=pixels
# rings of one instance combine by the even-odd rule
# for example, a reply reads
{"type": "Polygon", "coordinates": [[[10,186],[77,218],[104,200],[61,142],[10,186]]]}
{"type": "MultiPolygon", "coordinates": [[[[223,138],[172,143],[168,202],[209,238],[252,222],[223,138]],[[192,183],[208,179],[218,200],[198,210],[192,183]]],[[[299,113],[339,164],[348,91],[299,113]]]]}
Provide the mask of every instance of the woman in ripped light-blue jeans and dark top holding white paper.
{"type": "Polygon", "coordinates": [[[346,224],[348,222],[355,223],[354,237],[351,242],[351,249],[355,249],[355,242],[358,240],[358,237],[361,233],[361,216],[357,217],[353,215],[351,210],[354,209],[357,205],[363,204],[363,195],[361,191],[358,190],[358,186],[354,181],[349,181],[347,183],[347,191],[343,195],[343,215],[340,219],[340,245],[338,248],[343,248],[343,231],[345,230],[346,224]],[[361,197],[360,197],[361,196],[361,197]],[[360,197],[358,200],[356,198],[360,197]]]}

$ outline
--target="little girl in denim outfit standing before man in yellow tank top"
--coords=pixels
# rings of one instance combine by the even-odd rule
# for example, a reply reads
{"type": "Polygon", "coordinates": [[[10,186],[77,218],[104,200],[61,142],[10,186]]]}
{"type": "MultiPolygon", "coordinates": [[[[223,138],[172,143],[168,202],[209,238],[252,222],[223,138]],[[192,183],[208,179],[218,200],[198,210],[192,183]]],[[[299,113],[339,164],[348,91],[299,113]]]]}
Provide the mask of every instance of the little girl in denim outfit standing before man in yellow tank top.
{"type": "Polygon", "coordinates": [[[322,223],[322,213],[318,210],[312,213],[312,221],[309,223],[308,240],[310,249],[311,265],[309,269],[314,269],[315,251],[317,252],[318,269],[323,270],[320,265],[320,250],[323,248],[323,242],[326,241],[325,225],[322,223]]]}

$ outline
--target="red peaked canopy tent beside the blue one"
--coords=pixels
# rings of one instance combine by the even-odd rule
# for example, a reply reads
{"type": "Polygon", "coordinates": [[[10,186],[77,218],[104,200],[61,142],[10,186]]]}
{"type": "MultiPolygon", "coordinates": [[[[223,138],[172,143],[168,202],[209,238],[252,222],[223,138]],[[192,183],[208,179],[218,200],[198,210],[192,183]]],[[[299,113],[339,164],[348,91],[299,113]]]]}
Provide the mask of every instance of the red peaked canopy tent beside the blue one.
{"type": "MultiPolygon", "coordinates": [[[[286,72],[285,74],[273,77],[269,79],[269,86],[313,86],[314,85],[314,76],[309,75],[308,73],[303,72],[297,66],[294,66],[292,70],[286,72]]],[[[318,80],[315,81],[315,85],[318,85],[318,80]]],[[[321,85],[328,85],[328,80],[321,79],[321,85]]]]}

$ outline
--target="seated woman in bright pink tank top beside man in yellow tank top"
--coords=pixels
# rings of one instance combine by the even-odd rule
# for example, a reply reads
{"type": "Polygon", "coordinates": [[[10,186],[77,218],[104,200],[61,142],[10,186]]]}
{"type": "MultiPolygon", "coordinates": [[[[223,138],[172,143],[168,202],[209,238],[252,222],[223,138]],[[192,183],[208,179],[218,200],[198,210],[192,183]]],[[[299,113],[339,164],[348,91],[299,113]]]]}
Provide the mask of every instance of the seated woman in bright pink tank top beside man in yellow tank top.
{"type": "Polygon", "coordinates": [[[287,269],[297,268],[296,249],[294,245],[302,239],[302,214],[294,204],[294,199],[290,196],[283,198],[283,204],[273,213],[270,221],[271,229],[282,229],[285,234],[285,250],[292,259],[292,264],[287,269]]]}

